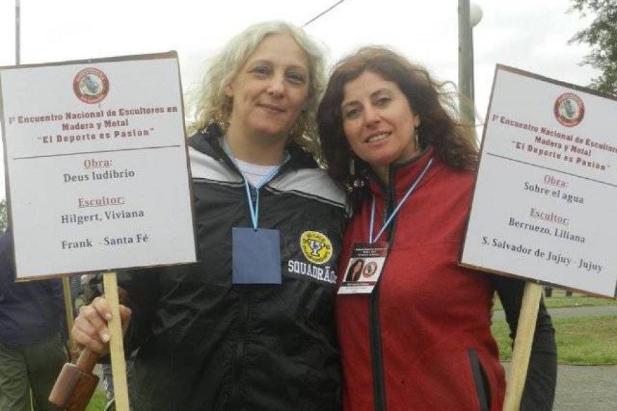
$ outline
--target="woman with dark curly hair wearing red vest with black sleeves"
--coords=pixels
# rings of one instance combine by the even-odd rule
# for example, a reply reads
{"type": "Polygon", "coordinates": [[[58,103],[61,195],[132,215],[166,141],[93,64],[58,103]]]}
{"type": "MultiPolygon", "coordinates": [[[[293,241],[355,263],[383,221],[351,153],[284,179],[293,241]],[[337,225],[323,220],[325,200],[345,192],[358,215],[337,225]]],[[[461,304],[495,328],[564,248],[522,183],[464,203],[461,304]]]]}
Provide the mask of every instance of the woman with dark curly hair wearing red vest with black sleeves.
{"type": "MultiPolygon", "coordinates": [[[[328,172],[355,211],[339,271],[354,245],[387,249],[372,290],[345,294],[343,284],[337,298],[346,410],[503,405],[493,295],[514,336],[524,282],[457,265],[478,150],[450,94],[401,55],[366,47],[335,66],[319,106],[328,172]]],[[[551,410],[555,374],[542,305],[521,410],[551,410]]]]}

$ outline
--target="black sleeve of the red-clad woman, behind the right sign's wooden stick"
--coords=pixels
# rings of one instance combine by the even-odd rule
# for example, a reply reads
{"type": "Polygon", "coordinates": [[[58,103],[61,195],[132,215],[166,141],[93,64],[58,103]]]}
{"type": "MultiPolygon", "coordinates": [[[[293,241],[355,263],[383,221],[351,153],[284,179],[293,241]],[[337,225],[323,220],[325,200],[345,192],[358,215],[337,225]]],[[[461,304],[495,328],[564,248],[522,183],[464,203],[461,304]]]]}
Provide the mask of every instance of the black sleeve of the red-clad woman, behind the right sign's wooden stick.
{"type": "MultiPolygon", "coordinates": [[[[494,277],[492,282],[505,311],[506,321],[510,327],[510,338],[514,340],[525,282],[509,277],[494,277]]],[[[544,300],[541,299],[520,411],[553,410],[556,382],[555,329],[551,316],[544,306],[544,300]]]]}

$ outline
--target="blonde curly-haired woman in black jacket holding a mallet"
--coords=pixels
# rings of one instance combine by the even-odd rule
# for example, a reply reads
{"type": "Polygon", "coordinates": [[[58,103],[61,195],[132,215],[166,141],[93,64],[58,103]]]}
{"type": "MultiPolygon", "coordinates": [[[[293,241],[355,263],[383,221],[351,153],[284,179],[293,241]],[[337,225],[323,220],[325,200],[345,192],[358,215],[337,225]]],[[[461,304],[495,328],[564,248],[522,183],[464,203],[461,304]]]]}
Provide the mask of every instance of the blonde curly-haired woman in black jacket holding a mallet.
{"type": "MultiPolygon", "coordinates": [[[[199,262],[120,282],[138,348],[134,410],[339,410],[345,196],[310,153],[323,70],[301,29],[261,23],[213,58],[193,92],[199,262]]],[[[75,340],[106,352],[108,315],[95,299],[75,340]]]]}

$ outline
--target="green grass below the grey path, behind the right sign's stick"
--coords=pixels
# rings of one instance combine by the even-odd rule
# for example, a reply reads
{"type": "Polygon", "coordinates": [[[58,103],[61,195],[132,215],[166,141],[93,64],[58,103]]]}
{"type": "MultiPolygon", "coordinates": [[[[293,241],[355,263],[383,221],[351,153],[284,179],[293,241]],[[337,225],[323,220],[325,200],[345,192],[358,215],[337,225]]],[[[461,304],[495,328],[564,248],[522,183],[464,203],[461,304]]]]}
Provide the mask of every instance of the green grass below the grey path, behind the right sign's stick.
{"type": "MultiPolygon", "coordinates": [[[[560,364],[617,364],[617,316],[553,318],[560,364]]],[[[500,358],[511,360],[511,340],[505,320],[494,320],[493,335],[500,358]]]]}

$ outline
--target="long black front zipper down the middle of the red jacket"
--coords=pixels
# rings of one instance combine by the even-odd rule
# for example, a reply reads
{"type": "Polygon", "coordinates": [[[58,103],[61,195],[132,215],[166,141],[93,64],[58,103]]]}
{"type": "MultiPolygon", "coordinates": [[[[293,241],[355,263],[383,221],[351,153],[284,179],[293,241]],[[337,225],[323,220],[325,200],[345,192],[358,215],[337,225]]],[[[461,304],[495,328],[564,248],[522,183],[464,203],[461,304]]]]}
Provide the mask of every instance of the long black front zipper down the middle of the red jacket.
{"type": "MultiPolygon", "coordinates": [[[[389,186],[384,187],[384,191],[386,193],[385,199],[386,203],[384,205],[384,213],[382,216],[382,224],[385,223],[387,215],[394,208],[394,203],[396,201],[395,190],[391,190],[394,187],[394,173],[392,169],[389,171],[389,186]]],[[[388,248],[391,245],[391,239],[394,235],[394,227],[396,223],[396,216],[392,219],[392,225],[388,232],[388,248]]],[[[381,352],[381,329],[379,323],[379,290],[380,284],[383,282],[383,275],[385,274],[385,266],[388,259],[389,253],[386,255],[386,258],[383,262],[382,271],[380,275],[379,282],[375,286],[370,299],[370,343],[371,343],[371,362],[373,369],[373,393],[374,393],[374,403],[376,411],[386,411],[386,393],[385,393],[385,384],[383,381],[383,355],[381,352]]]]}

